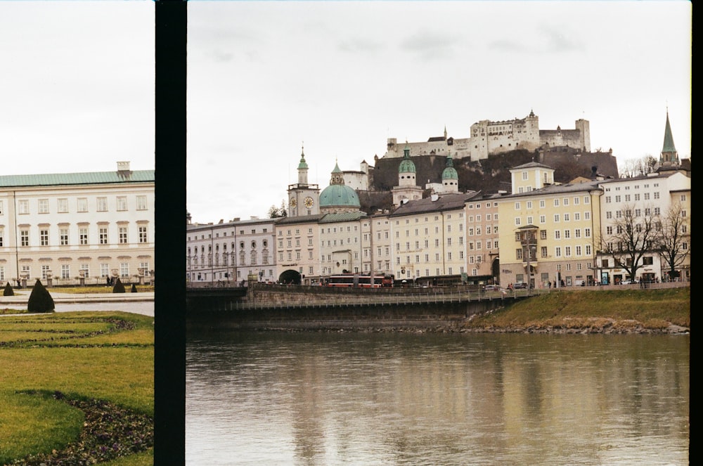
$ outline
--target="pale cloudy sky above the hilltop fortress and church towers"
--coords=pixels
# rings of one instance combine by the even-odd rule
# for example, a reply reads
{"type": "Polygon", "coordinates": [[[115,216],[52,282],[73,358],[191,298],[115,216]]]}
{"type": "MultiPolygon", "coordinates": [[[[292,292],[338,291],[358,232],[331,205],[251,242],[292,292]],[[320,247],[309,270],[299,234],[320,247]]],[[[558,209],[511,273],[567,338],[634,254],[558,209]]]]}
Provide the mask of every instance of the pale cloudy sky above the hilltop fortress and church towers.
{"type": "Polygon", "coordinates": [[[469,136],[481,119],[591,124],[591,148],[659,155],[666,107],[690,155],[685,1],[190,1],[188,211],[266,216],[387,138],[469,136]]]}

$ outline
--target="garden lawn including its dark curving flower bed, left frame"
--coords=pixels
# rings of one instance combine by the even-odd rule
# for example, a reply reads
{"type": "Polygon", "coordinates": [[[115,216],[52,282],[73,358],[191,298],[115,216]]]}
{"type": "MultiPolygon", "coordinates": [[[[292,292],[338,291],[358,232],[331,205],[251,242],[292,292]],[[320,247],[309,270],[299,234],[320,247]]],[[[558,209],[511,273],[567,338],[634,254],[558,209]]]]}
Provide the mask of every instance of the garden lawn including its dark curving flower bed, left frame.
{"type": "Polygon", "coordinates": [[[122,312],[1,317],[0,464],[124,455],[101,464],[152,465],[153,321],[122,312]]]}

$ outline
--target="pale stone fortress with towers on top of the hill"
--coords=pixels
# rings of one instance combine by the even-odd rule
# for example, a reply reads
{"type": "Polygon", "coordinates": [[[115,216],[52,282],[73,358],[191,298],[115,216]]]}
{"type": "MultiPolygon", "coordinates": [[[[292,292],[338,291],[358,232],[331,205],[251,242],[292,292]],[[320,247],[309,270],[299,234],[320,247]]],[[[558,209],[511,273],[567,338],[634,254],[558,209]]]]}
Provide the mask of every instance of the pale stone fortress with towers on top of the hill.
{"type": "Polygon", "coordinates": [[[588,120],[577,119],[575,129],[539,129],[539,117],[530,111],[527,117],[502,122],[487,119],[471,125],[468,138],[444,136],[427,139],[426,142],[405,143],[398,145],[396,138],[388,138],[386,153],[383,157],[403,157],[404,149],[409,148],[415,155],[444,155],[455,160],[472,161],[487,159],[489,155],[524,149],[534,151],[553,147],[569,147],[583,152],[591,152],[591,131],[588,120]]]}

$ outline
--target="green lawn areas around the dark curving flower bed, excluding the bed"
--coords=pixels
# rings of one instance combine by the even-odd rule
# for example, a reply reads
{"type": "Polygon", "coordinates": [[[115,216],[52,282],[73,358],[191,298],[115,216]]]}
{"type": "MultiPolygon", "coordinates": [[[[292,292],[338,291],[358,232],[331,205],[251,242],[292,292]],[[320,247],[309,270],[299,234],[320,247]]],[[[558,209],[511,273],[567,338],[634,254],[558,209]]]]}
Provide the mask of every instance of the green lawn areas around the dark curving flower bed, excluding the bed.
{"type": "MultiPolygon", "coordinates": [[[[51,453],[60,449],[57,445],[76,441],[83,428],[81,410],[24,391],[57,391],[72,399],[105,400],[153,418],[153,332],[153,317],[122,312],[0,318],[0,339],[8,342],[0,346],[0,464],[51,453]],[[54,323],[62,329],[56,335],[62,336],[73,325],[68,335],[74,337],[57,342],[56,335],[46,330],[54,323]],[[22,332],[23,328],[27,331],[22,332]],[[34,338],[37,334],[54,339],[34,338]],[[27,341],[28,337],[33,341],[27,341]],[[77,414],[71,414],[74,411],[77,414]]],[[[118,461],[115,465],[151,464],[153,453],[118,461]]]]}

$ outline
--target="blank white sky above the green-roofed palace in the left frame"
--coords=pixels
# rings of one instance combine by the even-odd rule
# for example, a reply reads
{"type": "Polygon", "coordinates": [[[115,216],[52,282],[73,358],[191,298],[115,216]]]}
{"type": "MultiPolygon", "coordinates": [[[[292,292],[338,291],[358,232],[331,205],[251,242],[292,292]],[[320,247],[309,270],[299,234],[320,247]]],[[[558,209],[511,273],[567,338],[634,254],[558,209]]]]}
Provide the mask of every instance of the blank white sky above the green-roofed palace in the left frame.
{"type": "Polygon", "coordinates": [[[154,5],[0,1],[0,174],[154,168],[154,5]]]}

